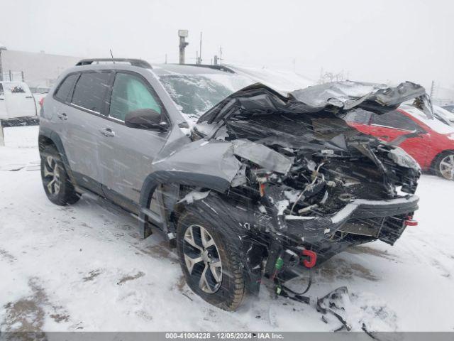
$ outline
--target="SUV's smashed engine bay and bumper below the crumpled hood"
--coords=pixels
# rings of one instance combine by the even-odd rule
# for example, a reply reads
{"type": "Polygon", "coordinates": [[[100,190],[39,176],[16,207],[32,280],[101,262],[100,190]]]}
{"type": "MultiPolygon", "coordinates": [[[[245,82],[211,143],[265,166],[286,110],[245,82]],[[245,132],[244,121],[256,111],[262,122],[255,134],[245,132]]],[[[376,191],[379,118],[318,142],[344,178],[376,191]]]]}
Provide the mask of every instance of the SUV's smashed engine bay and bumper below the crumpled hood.
{"type": "Polygon", "coordinates": [[[237,119],[227,124],[228,136],[236,138],[245,137],[240,134],[243,124],[248,131],[258,124],[267,136],[289,134],[292,129],[306,131],[302,134],[306,141],[299,143],[262,140],[270,148],[264,160],[255,159],[262,137],[253,144],[250,135],[248,142],[238,145],[238,140],[233,141],[244,178],[242,183],[236,178],[240,185],[234,183],[231,190],[257,203],[253,229],[257,239],[268,245],[265,274],[270,277],[276,276],[278,259],[283,262],[281,272],[304,261],[309,262],[307,267],[314,266],[306,250],[315,252],[316,264],[321,264],[346,247],[376,239],[394,244],[418,208],[414,191],[421,172],[410,157],[362,136],[341,119],[326,121],[323,129],[331,126],[328,130],[334,133],[321,136],[314,131],[323,120],[319,115],[323,116],[293,120],[287,126],[291,115],[275,114],[272,119],[262,118],[273,121],[265,131],[258,117],[253,122],[237,119]],[[270,160],[275,162],[260,166],[270,160]]]}

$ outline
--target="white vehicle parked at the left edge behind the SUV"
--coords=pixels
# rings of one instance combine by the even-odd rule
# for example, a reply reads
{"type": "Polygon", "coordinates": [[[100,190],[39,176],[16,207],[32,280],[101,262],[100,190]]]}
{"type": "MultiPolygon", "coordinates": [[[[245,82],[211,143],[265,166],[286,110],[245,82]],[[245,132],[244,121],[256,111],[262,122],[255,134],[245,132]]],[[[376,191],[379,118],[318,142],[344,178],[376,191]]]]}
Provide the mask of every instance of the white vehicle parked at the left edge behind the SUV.
{"type": "Polygon", "coordinates": [[[0,82],[0,120],[37,118],[38,107],[24,82],[0,82]]]}

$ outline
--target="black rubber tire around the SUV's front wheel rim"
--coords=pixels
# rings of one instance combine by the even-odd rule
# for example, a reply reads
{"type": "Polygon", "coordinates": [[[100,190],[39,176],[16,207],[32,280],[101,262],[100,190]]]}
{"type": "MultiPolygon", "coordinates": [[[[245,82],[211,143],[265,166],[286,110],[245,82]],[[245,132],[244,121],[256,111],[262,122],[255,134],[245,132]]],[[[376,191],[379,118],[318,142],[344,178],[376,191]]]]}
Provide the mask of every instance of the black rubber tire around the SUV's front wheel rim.
{"type": "MultiPolygon", "coordinates": [[[[182,213],[177,226],[177,250],[186,282],[192,291],[206,302],[223,310],[236,310],[243,302],[246,291],[243,265],[239,259],[241,245],[238,233],[235,231],[235,228],[228,226],[228,222],[221,220],[216,215],[213,216],[213,212],[207,212],[210,210],[209,207],[204,209],[202,205],[197,205],[195,202],[189,206],[190,210],[182,213]],[[214,224],[218,224],[218,226],[215,227],[214,224]],[[213,251],[214,258],[218,256],[218,259],[221,261],[221,282],[218,284],[218,288],[212,293],[202,290],[199,285],[201,268],[196,269],[196,266],[194,266],[192,274],[189,274],[189,269],[184,258],[184,253],[188,252],[188,247],[190,248],[190,245],[188,246],[186,239],[184,239],[185,233],[190,227],[195,230],[197,228],[196,226],[203,227],[209,233],[209,237],[214,240],[215,247],[218,251],[217,254],[213,251]]],[[[200,254],[202,254],[202,251],[200,254]]],[[[204,266],[204,264],[201,266],[204,266]]],[[[210,275],[212,276],[211,272],[210,275]]]]}

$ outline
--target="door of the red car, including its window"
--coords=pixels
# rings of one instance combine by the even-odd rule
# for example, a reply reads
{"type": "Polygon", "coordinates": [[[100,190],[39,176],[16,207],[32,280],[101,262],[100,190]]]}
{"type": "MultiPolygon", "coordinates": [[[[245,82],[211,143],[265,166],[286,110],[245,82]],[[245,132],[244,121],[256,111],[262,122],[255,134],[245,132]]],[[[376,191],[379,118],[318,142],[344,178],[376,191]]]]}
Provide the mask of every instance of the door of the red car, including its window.
{"type": "Polygon", "coordinates": [[[373,114],[370,134],[403,148],[422,167],[426,164],[431,135],[403,112],[393,110],[386,114],[373,114]]]}

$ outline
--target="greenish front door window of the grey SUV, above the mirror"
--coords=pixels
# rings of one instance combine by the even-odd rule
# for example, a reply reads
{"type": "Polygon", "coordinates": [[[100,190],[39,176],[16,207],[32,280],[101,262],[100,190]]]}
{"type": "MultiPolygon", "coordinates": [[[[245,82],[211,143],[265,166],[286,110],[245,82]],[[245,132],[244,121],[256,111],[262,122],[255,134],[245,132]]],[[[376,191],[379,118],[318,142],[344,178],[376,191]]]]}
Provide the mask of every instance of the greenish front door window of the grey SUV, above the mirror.
{"type": "Polygon", "coordinates": [[[112,89],[109,116],[121,121],[128,112],[138,109],[154,109],[161,114],[162,108],[150,88],[135,75],[117,73],[112,89]]]}

